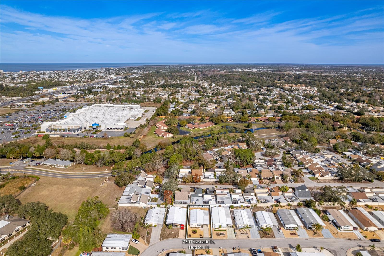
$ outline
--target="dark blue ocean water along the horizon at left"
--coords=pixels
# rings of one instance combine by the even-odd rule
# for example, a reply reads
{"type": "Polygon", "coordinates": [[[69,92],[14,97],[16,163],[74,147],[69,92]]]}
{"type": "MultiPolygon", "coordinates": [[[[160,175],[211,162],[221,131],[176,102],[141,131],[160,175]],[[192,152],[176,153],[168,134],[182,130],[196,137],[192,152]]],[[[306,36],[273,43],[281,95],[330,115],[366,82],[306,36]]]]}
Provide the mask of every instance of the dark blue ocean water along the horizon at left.
{"type": "Polygon", "coordinates": [[[121,68],[127,66],[153,66],[153,65],[197,65],[197,64],[233,64],[233,63],[170,63],[170,62],[132,62],[132,63],[0,63],[3,71],[50,71],[50,70],[76,70],[96,68],[121,68]]]}

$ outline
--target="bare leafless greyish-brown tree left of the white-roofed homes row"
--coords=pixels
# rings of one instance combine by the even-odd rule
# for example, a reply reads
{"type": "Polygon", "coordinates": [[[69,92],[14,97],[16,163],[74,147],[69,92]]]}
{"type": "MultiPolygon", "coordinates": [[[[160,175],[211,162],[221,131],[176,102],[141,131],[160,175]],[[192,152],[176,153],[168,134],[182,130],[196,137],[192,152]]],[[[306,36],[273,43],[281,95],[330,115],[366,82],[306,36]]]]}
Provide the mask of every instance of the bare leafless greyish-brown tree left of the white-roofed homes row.
{"type": "Polygon", "coordinates": [[[127,233],[131,233],[134,230],[139,219],[139,215],[128,208],[119,208],[111,214],[112,227],[127,233]]]}

